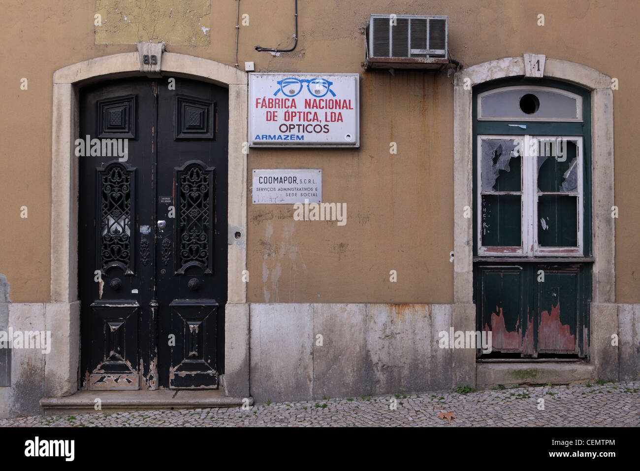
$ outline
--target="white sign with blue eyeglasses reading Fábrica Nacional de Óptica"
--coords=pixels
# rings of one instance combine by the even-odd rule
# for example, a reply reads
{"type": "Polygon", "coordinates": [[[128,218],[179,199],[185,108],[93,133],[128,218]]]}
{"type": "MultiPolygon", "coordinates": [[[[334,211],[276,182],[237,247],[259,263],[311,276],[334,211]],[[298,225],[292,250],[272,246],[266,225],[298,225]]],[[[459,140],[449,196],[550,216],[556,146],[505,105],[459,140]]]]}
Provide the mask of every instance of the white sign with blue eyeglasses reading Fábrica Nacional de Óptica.
{"type": "Polygon", "coordinates": [[[249,74],[250,145],[360,147],[358,74],[249,74]]]}

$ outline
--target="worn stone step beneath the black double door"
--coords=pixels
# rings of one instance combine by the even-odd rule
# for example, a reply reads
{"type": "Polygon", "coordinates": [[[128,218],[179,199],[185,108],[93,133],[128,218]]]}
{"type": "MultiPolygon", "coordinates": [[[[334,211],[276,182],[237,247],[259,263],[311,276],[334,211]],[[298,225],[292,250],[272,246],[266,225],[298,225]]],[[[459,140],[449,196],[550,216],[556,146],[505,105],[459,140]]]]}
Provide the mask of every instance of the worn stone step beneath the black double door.
{"type": "Polygon", "coordinates": [[[67,397],[44,397],[40,406],[45,415],[144,410],[239,407],[243,399],[253,405],[252,397],[227,397],[223,390],[189,391],[78,391],[67,397]],[[100,399],[100,410],[96,410],[100,399]]]}

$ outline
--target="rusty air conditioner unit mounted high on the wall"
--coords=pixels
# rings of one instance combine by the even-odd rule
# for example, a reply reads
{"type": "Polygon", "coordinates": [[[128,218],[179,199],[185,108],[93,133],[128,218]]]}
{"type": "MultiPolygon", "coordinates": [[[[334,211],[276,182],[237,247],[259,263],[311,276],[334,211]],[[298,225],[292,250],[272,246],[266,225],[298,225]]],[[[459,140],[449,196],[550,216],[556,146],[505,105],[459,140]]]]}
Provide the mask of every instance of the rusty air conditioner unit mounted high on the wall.
{"type": "Polygon", "coordinates": [[[439,69],[447,59],[447,16],[371,15],[365,68],[439,69]]]}

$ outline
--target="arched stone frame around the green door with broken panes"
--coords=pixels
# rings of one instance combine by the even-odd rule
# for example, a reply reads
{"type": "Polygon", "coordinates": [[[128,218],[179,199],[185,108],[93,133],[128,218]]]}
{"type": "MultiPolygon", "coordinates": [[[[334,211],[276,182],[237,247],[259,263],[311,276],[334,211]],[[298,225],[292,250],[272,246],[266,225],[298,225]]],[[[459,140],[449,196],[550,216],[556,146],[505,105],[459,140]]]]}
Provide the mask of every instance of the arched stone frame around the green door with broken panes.
{"type": "MultiPolygon", "coordinates": [[[[456,329],[475,330],[473,303],[473,220],[465,218],[472,207],[472,88],[495,79],[526,75],[525,57],[509,57],[479,63],[454,78],[454,307],[456,329]]],[[[546,58],[543,77],[570,82],[591,91],[593,292],[591,302],[590,358],[595,377],[618,378],[618,349],[611,335],[618,333],[615,283],[613,91],[611,77],[598,70],[546,58]]],[[[534,80],[532,81],[534,85],[534,80]]],[[[471,358],[466,358],[466,363],[471,358]]],[[[464,368],[460,379],[475,380],[475,371],[464,368]]],[[[475,381],[474,381],[475,382],[475,381]]]]}

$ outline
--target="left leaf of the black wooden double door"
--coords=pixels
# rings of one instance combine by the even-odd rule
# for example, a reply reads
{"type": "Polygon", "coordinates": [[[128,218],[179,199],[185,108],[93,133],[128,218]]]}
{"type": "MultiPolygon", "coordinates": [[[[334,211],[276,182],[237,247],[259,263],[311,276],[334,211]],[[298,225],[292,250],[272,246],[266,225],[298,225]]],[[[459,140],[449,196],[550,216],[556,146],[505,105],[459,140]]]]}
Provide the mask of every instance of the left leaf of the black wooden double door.
{"type": "Polygon", "coordinates": [[[155,109],[156,97],[147,79],[81,90],[80,136],[84,140],[89,136],[90,142],[99,139],[93,141],[92,152],[78,157],[84,388],[138,389],[150,379],[148,368],[142,384],[133,377],[140,376],[141,363],[148,363],[150,339],[140,332],[148,333],[155,297],[154,262],[149,256],[154,244],[150,227],[155,222],[155,109]],[[124,150],[124,141],[118,139],[127,139],[126,161],[113,151],[111,144],[124,150]],[[141,231],[145,226],[147,233],[141,231]],[[95,281],[97,270],[101,283],[95,281]],[[120,352],[112,354],[113,348],[120,352]]]}

